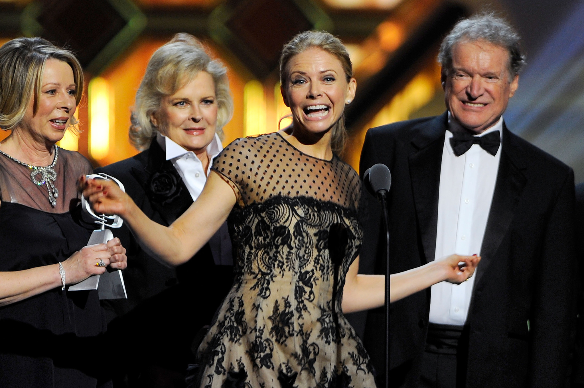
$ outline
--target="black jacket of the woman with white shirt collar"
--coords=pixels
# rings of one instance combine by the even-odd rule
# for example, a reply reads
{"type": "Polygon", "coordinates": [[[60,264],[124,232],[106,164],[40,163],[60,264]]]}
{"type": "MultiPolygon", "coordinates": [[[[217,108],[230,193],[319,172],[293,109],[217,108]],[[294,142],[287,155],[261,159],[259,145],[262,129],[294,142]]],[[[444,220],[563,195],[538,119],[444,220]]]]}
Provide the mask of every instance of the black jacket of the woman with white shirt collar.
{"type": "MultiPolygon", "coordinates": [[[[95,172],[119,179],[148,218],[161,225],[170,225],[193,203],[156,141],[146,151],[95,172]]],[[[126,344],[124,350],[137,368],[154,365],[186,372],[187,363],[193,362],[193,340],[211,323],[231,288],[233,267],[215,265],[207,243],[187,263],[172,268],[143,250],[126,225],[112,232],[127,249],[123,276],[128,299],[102,301],[112,321],[110,334],[126,344]]]]}

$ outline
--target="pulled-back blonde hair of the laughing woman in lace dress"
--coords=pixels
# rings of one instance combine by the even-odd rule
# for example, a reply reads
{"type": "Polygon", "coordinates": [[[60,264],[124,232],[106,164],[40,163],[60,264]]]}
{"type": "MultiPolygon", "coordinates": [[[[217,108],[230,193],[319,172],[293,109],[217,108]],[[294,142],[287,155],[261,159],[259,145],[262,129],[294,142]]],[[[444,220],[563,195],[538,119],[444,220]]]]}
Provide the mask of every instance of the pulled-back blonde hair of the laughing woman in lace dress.
{"type": "MultiPolygon", "coordinates": [[[[294,36],[282,49],[280,56],[280,84],[287,85],[288,62],[294,55],[298,55],[309,48],[317,47],[336,57],[345,71],[347,82],[353,78],[353,64],[345,45],[337,37],[322,31],[305,31],[294,36]]],[[[286,88],[286,86],[284,86],[286,88]]],[[[345,114],[340,117],[335,127],[332,128],[331,148],[333,152],[343,151],[347,139],[345,128],[345,114]]]]}

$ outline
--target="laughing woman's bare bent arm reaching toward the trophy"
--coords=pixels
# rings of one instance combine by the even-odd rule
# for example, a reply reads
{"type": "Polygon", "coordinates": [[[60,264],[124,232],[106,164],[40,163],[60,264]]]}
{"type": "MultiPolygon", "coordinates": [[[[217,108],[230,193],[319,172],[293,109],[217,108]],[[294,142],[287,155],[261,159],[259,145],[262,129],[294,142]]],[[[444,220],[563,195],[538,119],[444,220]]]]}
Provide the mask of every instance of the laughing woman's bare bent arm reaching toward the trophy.
{"type": "Polygon", "coordinates": [[[166,227],[148,218],[112,181],[82,177],[80,184],[94,212],[121,216],[140,246],[170,265],[193,257],[223,225],[237,200],[231,186],[213,172],[199,198],[166,227]]]}

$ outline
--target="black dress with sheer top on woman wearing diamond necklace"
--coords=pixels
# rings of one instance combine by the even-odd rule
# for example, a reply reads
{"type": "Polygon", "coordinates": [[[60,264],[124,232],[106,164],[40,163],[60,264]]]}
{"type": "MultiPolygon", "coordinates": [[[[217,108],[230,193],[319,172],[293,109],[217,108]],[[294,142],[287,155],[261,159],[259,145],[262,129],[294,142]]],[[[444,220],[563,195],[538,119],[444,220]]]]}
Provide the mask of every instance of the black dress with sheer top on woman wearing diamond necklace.
{"type": "MultiPolygon", "coordinates": [[[[59,149],[55,170],[59,197],[52,207],[46,186],[0,155],[0,271],[57,264],[88,242],[92,226],[80,221],[75,185],[91,165],[59,149]]],[[[100,355],[104,328],[97,291],[58,287],[0,307],[0,387],[111,386],[98,376],[109,363],[100,355]]]]}

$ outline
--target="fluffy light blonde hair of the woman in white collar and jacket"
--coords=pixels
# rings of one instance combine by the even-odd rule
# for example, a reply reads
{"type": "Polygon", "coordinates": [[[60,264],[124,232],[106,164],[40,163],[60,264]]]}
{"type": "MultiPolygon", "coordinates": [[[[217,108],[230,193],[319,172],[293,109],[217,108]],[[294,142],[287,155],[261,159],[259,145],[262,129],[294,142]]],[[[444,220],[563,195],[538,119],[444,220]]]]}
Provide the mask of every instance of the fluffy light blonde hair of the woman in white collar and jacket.
{"type": "Polygon", "coordinates": [[[146,74],[136,92],[131,114],[130,142],[142,151],[148,146],[158,128],[151,117],[161,107],[162,99],[176,93],[200,71],[211,75],[217,98],[216,132],[223,139],[223,127],[233,116],[233,99],[229,90],[227,69],[218,60],[211,60],[203,44],[187,33],[176,34],[158,48],[148,62],[146,74]]]}

